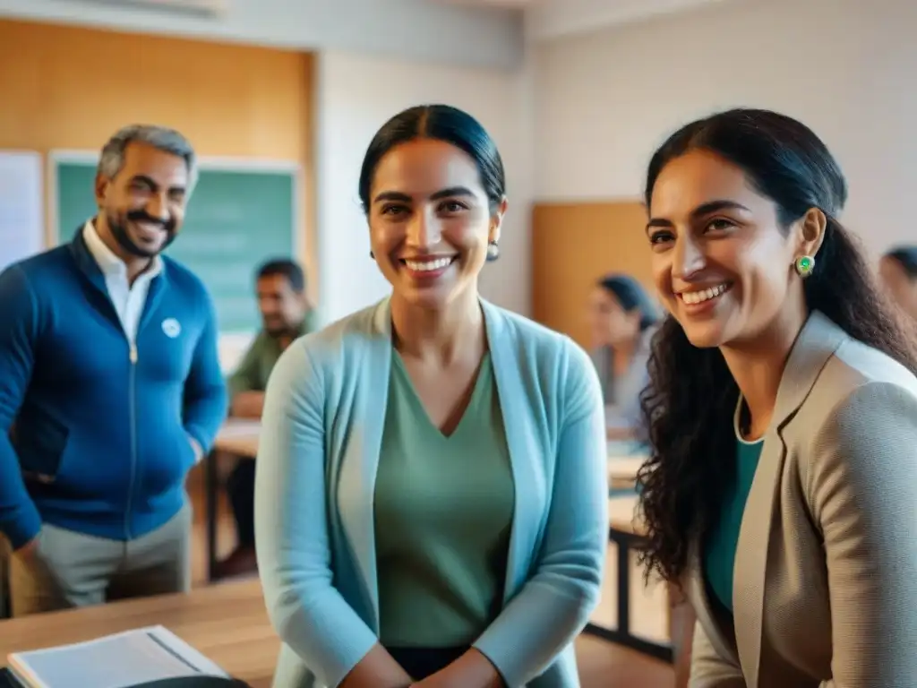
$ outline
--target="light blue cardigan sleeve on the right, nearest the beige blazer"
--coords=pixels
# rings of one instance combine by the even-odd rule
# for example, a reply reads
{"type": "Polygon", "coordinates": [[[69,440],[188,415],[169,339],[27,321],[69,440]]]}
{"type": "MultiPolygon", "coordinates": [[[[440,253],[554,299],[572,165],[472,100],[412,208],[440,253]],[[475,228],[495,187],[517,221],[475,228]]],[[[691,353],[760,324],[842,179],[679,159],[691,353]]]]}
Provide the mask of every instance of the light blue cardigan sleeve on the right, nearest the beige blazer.
{"type": "Polygon", "coordinates": [[[547,528],[532,577],[475,642],[507,685],[526,685],[580,634],[598,604],[608,542],[602,389],[568,341],[565,409],[547,528]]]}

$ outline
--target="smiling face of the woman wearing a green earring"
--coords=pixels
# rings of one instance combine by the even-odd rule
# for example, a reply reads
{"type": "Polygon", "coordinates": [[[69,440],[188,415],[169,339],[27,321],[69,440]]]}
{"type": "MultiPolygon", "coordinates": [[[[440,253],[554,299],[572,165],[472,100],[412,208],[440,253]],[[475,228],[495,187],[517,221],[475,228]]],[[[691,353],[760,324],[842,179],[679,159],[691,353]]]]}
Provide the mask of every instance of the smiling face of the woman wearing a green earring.
{"type": "Polygon", "coordinates": [[[754,341],[801,317],[792,266],[820,244],[820,211],[781,227],[778,206],[740,168],[692,150],[659,173],[649,212],[657,291],[694,346],[754,341]]]}

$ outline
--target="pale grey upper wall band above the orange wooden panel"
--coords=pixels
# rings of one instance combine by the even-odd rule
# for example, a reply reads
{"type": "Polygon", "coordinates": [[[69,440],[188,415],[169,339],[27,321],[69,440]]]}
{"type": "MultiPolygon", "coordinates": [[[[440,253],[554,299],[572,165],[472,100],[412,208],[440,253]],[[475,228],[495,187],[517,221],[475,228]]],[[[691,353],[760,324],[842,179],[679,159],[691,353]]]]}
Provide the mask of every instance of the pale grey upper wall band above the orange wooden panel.
{"type": "Polygon", "coordinates": [[[478,66],[522,61],[522,13],[513,9],[428,0],[226,0],[226,6],[224,17],[194,17],[115,0],[0,0],[0,18],[478,66]]]}

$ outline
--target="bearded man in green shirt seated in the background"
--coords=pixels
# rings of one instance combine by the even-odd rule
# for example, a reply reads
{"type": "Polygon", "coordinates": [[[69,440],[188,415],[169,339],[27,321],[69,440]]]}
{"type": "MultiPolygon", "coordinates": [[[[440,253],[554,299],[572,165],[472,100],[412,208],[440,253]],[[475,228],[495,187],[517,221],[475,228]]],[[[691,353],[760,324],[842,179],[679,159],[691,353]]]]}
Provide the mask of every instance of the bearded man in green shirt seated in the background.
{"type": "MultiPolygon", "coordinates": [[[[269,261],[256,278],[263,329],[229,378],[229,413],[260,418],[264,389],[274,364],[293,339],[314,329],[314,311],[305,294],[303,269],[293,261],[269,261]]],[[[226,493],[236,521],[238,546],[216,569],[218,577],[255,571],[255,461],[240,457],[226,480],[226,493]]]]}

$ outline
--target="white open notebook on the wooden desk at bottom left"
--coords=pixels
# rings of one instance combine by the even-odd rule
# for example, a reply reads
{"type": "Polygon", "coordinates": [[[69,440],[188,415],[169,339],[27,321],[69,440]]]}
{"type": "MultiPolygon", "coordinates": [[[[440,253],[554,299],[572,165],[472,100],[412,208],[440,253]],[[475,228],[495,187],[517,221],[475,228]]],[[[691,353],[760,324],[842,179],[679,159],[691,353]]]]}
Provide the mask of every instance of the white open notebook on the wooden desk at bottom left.
{"type": "Polygon", "coordinates": [[[169,680],[178,685],[193,677],[213,677],[231,684],[226,671],[161,626],[16,652],[7,663],[23,688],[134,688],[169,680]]]}

